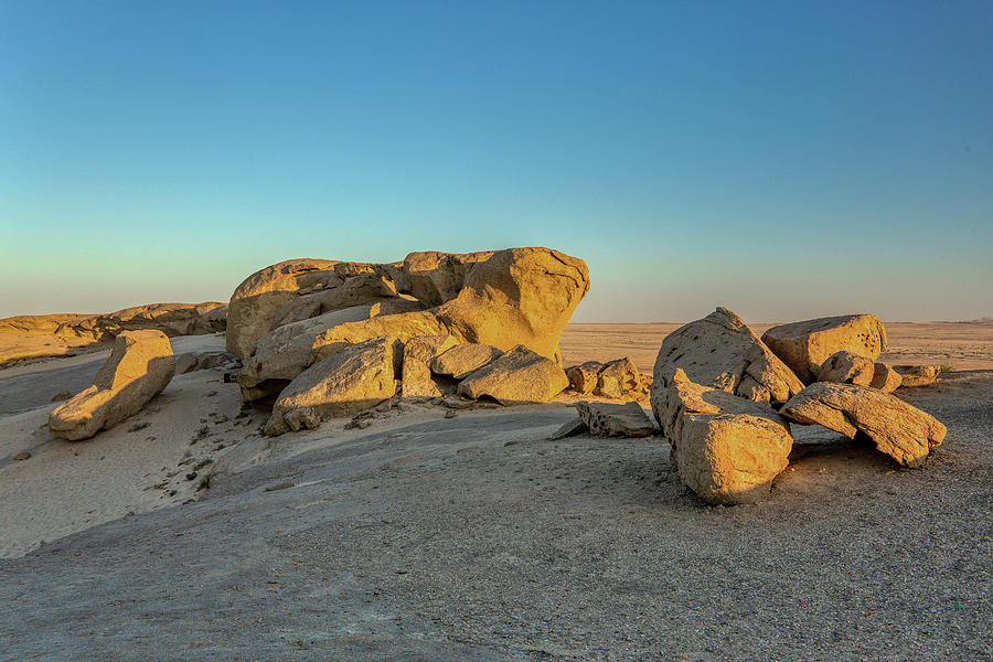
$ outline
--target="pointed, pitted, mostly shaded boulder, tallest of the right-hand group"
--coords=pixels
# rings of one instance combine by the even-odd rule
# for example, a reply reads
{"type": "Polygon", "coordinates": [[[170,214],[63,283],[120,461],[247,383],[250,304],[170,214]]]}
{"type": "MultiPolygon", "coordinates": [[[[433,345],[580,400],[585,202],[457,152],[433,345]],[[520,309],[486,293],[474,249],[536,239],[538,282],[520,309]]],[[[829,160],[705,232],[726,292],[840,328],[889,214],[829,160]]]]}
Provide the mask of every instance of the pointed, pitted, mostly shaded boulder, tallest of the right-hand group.
{"type": "Polygon", "coordinates": [[[782,403],[803,388],[797,375],[726,308],[670,333],[653,373],[652,409],[661,413],[676,370],[690,380],[757,402],[782,403]]]}

